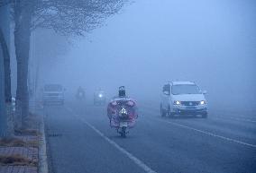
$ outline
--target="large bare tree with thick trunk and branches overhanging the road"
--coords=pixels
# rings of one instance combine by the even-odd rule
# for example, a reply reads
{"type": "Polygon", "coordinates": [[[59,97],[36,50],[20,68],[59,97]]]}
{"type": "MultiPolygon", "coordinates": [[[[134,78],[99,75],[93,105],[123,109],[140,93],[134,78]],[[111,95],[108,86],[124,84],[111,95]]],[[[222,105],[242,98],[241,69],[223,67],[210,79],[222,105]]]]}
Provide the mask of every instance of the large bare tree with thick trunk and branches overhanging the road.
{"type": "MultiPolygon", "coordinates": [[[[19,122],[28,115],[28,62],[31,31],[53,29],[65,35],[83,36],[119,12],[128,0],[0,0],[14,10],[14,46],[17,59],[16,105],[19,122]]],[[[21,127],[21,125],[18,125],[21,127]]]]}

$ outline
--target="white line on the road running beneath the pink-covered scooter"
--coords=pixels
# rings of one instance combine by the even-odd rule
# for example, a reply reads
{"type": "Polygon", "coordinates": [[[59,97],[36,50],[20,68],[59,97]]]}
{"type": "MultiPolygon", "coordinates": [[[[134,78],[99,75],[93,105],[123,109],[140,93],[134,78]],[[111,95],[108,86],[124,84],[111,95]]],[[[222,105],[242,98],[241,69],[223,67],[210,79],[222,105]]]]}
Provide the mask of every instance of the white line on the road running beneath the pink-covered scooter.
{"type": "Polygon", "coordinates": [[[145,170],[145,172],[147,173],[157,173],[156,171],[154,171],[153,169],[151,169],[149,166],[147,166],[145,163],[142,162],[142,160],[137,159],[135,156],[133,156],[132,153],[124,150],[121,146],[119,146],[117,143],[114,143],[114,141],[112,141],[111,139],[109,139],[108,137],[105,136],[105,134],[101,133],[98,129],[96,129],[96,127],[94,125],[89,124],[86,120],[81,119],[78,117],[77,114],[74,113],[74,111],[71,108],[68,108],[68,110],[75,115],[78,119],[80,119],[83,123],[85,123],[87,126],[89,126],[92,130],[94,130],[96,132],[96,134],[99,134],[102,138],[105,139],[105,141],[107,143],[110,143],[111,145],[114,146],[114,148],[116,148],[118,151],[122,152],[124,155],[126,155],[130,160],[133,160],[133,162],[138,165],[140,168],[142,168],[143,170],[145,170]]]}

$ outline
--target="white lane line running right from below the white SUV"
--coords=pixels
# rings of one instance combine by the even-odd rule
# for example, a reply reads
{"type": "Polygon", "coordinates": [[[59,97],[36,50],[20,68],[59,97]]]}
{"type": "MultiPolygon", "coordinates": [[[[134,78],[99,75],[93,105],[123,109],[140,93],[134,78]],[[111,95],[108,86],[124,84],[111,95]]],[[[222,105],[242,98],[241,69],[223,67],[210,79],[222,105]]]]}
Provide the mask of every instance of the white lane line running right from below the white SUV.
{"type": "Polygon", "coordinates": [[[174,122],[170,122],[170,121],[165,121],[165,120],[160,120],[160,119],[156,119],[160,122],[164,122],[164,123],[168,123],[170,125],[177,125],[179,127],[183,127],[183,128],[187,128],[189,130],[194,130],[196,132],[199,132],[201,134],[207,134],[207,135],[210,135],[210,136],[214,136],[214,137],[217,137],[217,138],[220,138],[220,139],[223,139],[225,141],[229,141],[229,142],[233,142],[233,143],[239,143],[239,144],[242,144],[242,145],[246,145],[246,146],[249,146],[249,147],[252,147],[252,148],[256,148],[256,145],[255,144],[251,144],[251,143],[244,143],[242,141],[238,141],[238,140],[235,140],[235,139],[232,139],[232,138],[228,138],[228,137],[224,137],[222,135],[218,135],[218,134],[213,134],[213,133],[210,133],[210,132],[206,132],[206,131],[203,131],[203,130],[199,130],[197,128],[193,128],[193,127],[190,127],[190,126],[187,126],[187,125],[181,125],[181,124],[178,124],[178,123],[174,123],[174,122]]]}

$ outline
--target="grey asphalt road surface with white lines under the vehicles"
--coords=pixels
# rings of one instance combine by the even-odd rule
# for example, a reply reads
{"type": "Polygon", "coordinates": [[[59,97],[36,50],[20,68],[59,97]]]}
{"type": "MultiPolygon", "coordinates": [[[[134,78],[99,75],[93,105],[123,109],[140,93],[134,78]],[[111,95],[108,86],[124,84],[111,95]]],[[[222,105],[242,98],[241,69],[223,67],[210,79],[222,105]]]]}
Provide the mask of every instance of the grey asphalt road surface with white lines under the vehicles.
{"type": "Polygon", "coordinates": [[[125,139],[109,127],[105,107],[45,107],[51,173],[256,172],[255,114],[170,119],[142,105],[125,139]]]}

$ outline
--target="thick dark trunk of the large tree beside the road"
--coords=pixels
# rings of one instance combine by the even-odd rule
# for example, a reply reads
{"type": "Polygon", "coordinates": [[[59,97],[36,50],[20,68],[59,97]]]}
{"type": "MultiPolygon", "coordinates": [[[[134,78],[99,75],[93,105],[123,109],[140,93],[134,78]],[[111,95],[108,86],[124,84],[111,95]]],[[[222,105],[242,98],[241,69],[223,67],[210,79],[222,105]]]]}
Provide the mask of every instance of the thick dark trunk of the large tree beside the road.
{"type": "Polygon", "coordinates": [[[21,16],[16,16],[14,28],[14,45],[17,60],[16,122],[17,128],[25,126],[29,115],[28,68],[32,9],[23,8],[21,16]]]}

